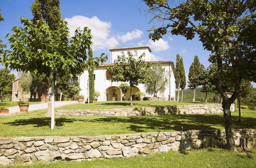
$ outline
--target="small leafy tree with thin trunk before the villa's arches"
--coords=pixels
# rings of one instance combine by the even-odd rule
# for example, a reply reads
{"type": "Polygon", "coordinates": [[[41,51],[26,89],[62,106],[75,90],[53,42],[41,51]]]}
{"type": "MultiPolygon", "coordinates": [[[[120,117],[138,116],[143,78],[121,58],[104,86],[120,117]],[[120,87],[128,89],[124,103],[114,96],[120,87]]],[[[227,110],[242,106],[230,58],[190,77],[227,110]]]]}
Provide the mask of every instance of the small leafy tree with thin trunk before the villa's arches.
{"type": "MultiPolygon", "coordinates": [[[[106,68],[106,70],[114,74],[112,81],[129,82],[131,93],[133,87],[137,86],[139,83],[145,83],[146,72],[147,69],[150,68],[150,64],[144,62],[144,56],[145,53],[140,55],[136,60],[133,58],[132,53],[130,53],[128,57],[118,55],[115,60],[115,65],[106,68]]],[[[131,94],[131,105],[132,104],[133,100],[131,94]]]]}

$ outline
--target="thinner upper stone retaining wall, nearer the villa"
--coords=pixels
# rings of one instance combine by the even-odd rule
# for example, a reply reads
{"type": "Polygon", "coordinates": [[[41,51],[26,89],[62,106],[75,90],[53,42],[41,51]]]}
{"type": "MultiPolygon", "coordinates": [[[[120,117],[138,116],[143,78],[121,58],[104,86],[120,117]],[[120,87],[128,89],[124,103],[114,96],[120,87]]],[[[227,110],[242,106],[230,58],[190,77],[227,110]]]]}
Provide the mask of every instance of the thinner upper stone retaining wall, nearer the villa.
{"type": "MultiPolygon", "coordinates": [[[[138,108],[56,110],[56,116],[148,116],[171,114],[223,113],[221,104],[193,104],[138,108]]],[[[234,111],[234,104],[230,107],[234,111]]]]}

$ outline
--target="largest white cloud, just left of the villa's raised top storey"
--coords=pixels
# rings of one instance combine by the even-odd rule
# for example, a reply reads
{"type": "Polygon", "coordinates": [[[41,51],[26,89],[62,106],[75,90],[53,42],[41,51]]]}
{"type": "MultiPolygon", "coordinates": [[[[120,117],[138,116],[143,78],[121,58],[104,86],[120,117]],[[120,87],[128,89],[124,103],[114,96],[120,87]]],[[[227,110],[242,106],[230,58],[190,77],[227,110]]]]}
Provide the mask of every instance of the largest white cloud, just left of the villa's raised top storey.
{"type": "Polygon", "coordinates": [[[111,22],[104,22],[99,20],[97,16],[88,18],[85,16],[73,16],[66,18],[70,30],[70,36],[74,36],[77,27],[83,29],[87,26],[92,30],[93,35],[93,50],[112,48],[118,45],[118,40],[111,36],[111,22]]]}

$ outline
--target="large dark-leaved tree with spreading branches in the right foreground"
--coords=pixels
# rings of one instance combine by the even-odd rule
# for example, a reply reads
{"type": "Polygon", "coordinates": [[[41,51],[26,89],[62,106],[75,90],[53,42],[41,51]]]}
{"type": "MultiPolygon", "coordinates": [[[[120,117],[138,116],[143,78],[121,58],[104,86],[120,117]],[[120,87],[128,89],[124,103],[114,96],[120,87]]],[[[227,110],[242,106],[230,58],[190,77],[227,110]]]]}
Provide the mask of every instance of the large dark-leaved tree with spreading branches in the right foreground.
{"type": "Polygon", "coordinates": [[[187,40],[197,34],[203,47],[211,52],[209,61],[217,63],[214,81],[222,97],[227,149],[235,150],[230,105],[240,93],[242,78],[256,81],[255,9],[254,0],[183,1],[181,4],[165,0],[144,0],[153,14],[152,40],[167,33],[182,35],[187,40]],[[160,27],[156,27],[160,25],[160,27]],[[224,75],[224,74],[227,75],[224,75]],[[234,83],[229,98],[225,86],[228,76],[234,83]]]}

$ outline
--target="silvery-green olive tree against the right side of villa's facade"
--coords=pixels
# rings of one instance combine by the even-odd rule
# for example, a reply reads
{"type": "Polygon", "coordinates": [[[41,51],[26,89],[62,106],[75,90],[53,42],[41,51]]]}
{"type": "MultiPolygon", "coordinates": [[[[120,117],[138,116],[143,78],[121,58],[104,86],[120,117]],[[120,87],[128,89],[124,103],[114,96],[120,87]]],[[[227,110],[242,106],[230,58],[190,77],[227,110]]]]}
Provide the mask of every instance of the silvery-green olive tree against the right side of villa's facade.
{"type": "Polygon", "coordinates": [[[146,82],[144,88],[147,94],[154,95],[157,97],[158,92],[164,93],[168,78],[165,69],[162,68],[161,64],[152,65],[146,71],[146,82]]]}

